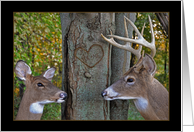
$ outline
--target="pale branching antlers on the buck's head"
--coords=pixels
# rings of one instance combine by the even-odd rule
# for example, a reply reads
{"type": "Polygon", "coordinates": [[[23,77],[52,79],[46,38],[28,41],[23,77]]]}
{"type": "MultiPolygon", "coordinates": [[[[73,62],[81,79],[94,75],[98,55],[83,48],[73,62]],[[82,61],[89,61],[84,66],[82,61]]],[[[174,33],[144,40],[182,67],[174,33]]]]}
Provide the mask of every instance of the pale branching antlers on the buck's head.
{"type": "MultiPolygon", "coordinates": [[[[152,27],[152,22],[151,22],[150,16],[148,16],[148,18],[149,18],[150,30],[151,30],[151,43],[149,43],[148,41],[146,41],[143,38],[144,27],[142,28],[142,32],[140,33],[139,30],[137,29],[137,27],[133,24],[133,22],[131,20],[129,20],[127,17],[125,17],[125,16],[124,16],[125,37],[120,37],[120,36],[112,35],[111,31],[110,31],[111,35],[108,35],[110,37],[110,39],[104,37],[103,34],[101,34],[101,36],[103,37],[104,40],[106,40],[110,44],[112,44],[112,45],[114,45],[114,46],[116,46],[118,48],[121,48],[121,49],[124,49],[124,50],[132,52],[134,55],[137,56],[138,59],[141,57],[142,45],[147,47],[147,48],[149,48],[149,49],[151,49],[151,56],[154,57],[155,54],[156,54],[155,37],[154,37],[154,32],[153,32],[153,27],[152,27]],[[128,31],[127,31],[127,26],[126,26],[126,20],[134,28],[135,32],[138,35],[138,39],[130,39],[130,38],[128,38],[128,31]],[[119,39],[119,40],[123,40],[126,43],[124,45],[118,44],[117,42],[114,41],[113,38],[116,38],[116,39],[119,39]],[[139,48],[137,50],[133,49],[129,42],[139,44],[140,46],[139,46],[139,48]]],[[[144,26],[145,26],[145,23],[144,23],[144,26]]]]}

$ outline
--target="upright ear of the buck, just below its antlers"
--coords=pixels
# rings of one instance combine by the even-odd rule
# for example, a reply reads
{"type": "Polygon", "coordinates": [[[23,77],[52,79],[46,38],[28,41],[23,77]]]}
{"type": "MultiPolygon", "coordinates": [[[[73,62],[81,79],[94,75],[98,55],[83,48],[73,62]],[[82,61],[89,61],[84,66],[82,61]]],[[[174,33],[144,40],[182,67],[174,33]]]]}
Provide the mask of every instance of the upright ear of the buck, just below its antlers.
{"type": "Polygon", "coordinates": [[[152,76],[155,75],[156,63],[150,55],[145,54],[145,57],[143,58],[143,66],[148,71],[148,73],[150,73],[152,76]]]}

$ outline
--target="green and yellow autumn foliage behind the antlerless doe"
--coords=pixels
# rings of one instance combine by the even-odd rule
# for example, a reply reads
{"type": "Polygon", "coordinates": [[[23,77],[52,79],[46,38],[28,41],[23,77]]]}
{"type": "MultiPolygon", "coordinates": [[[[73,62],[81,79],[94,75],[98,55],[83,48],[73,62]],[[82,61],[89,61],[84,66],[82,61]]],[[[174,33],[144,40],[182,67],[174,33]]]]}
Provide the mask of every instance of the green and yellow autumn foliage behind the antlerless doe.
{"type": "MultiPolygon", "coordinates": [[[[14,13],[14,66],[24,60],[33,76],[55,66],[53,84],[62,87],[62,32],[59,13],[14,13]]],[[[14,74],[14,118],[19,108],[19,84],[14,74]]],[[[24,88],[25,90],[25,88],[24,88]]],[[[59,120],[61,105],[45,105],[42,119],[59,120]]]]}

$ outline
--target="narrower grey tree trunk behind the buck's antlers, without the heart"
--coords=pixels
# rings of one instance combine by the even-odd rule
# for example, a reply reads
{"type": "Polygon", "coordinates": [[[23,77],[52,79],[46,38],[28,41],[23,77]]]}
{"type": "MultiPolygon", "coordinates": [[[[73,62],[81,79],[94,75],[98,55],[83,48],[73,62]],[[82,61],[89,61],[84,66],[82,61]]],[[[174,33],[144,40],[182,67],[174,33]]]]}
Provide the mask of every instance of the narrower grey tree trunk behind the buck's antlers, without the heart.
{"type": "MultiPolygon", "coordinates": [[[[115,34],[118,36],[125,36],[124,29],[124,15],[135,22],[136,14],[135,13],[115,13],[115,34]]],[[[127,23],[128,35],[129,38],[132,38],[133,27],[127,23]]],[[[125,44],[123,41],[116,40],[119,44],[125,44]]],[[[117,47],[112,47],[112,56],[111,56],[111,84],[117,81],[126,71],[130,68],[130,57],[131,53],[119,49],[117,47]]],[[[128,119],[128,109],[129,103],[133,103],[129,100],[114,100],[110,101],[110,119],[111,120],[127,120],[128,119]]],[[[130,104],[130,107],[135,107],[130,104]]],[[[129,109],[134,110],[135,108],[129,109]]]]}

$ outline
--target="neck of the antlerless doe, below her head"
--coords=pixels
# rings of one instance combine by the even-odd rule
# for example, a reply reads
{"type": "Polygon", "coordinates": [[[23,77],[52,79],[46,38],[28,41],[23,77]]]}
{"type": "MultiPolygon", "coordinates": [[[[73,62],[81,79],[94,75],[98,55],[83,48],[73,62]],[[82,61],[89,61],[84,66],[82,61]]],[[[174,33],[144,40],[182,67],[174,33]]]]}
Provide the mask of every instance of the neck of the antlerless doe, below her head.
{"type": "MultiPolygon", "coordinates": [[[[20,103],[16,120],[40,120],[42,116],[42,113],[34,114],[30,112],[30,106],[33,104],[36,105],[36,103],[34,103],[35,101],[30,98],[30,94],[28,93],[30,92],[28,91],[28,89],[26,89],[22,97],[22,101],[20,103]]],[[[44,105],[39,107],[42,107],[42,111],[43,111],[44,105]]]]}

